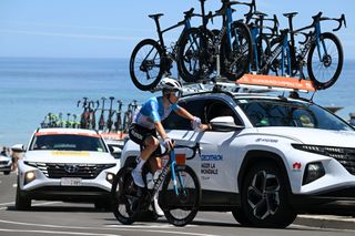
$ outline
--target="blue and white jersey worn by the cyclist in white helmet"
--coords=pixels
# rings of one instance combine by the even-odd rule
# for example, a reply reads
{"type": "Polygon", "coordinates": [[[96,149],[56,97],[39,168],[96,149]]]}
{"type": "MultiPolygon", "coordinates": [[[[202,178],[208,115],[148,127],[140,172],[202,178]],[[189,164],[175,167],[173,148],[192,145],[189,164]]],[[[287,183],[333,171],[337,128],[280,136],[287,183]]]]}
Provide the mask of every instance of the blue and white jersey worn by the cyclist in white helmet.
{"type": "Polygon", "coordinates": [[[156,121],[163,121],[169,116],[171,111],[179,110],[178,104],[171,104],[168,109],[164,109],[163,98],[162,96],[153,96],[148,100],[140,111],[136,113],[133,123],[139,124],[149,130],[155,129],[156,121]]]}

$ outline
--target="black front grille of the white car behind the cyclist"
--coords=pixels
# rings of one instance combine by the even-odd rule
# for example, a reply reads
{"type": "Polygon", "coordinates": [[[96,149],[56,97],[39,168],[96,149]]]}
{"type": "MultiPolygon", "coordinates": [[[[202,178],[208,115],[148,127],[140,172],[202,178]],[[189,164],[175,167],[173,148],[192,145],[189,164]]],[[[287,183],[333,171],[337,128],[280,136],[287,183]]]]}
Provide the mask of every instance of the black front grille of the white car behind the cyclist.
{"type": "Polygon", "coordinates": [[[26,162],[26,164],[37,167],[49,178],[80,177],[83,179],[95,178],[103,170],[115,166],[115,164],[58,164],[32,162],[26,162]]]}

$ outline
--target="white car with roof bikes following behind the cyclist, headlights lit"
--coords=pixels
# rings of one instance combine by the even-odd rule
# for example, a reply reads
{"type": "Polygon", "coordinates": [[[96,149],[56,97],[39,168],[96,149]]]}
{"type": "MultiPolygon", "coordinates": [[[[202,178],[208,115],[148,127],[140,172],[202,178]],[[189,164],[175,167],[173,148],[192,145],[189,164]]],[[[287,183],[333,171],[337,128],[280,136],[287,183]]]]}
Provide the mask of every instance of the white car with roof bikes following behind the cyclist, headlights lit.
{"type": "Polygon", "coordinates": [[[109,208],[119,168],[95,131],[39,129],[19,160],[16,207],[28,209],[31,199],[53,199],[93,202],[97,208],[109,208]]]}

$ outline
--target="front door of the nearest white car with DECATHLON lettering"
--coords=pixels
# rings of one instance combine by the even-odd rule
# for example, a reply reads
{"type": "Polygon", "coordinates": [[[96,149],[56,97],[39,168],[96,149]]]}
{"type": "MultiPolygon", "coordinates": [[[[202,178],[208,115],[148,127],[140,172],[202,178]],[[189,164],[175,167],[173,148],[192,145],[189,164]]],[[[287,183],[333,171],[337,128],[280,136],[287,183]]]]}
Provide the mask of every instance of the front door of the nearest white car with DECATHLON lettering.
{"type": "MultiPolygon", "coordinates": [[[[240,121],[231,104],[219,98],[186,100],[180,103],[191,114],[199,116],[202,123],[207,123],[216,116],[232,115],[240,121]],[[222,111],[222,107],[229,111],[222,111]],[[224,113],[225,112],[225,113],[224,113]],[[229,113],[229,114],[226,114],[229,113]]],[[[193,131],[185,119],[172,114],[163,123],[171,138],[178,144],[200,144],[201,154],[187,164],[193,167],[200,177],[202,189],[215,192],[236,192],[235,151],[230,147],[241,131],[193,131]]],[[[176,153],[186,152],[179,151],[176,153]]]]}

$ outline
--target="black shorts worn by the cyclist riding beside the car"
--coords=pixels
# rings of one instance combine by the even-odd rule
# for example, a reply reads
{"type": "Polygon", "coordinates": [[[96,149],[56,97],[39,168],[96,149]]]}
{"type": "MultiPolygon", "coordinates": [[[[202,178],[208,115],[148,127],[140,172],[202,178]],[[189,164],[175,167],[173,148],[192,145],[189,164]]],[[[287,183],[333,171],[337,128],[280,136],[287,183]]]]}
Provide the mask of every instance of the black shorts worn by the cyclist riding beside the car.
{"type": "MultiPolygon", "coordinates": [[[[146,137],[153,136],[158,138],[156,135],[156,130],[149,130],[146,127],[143,127],[139,124],[131,124],[130,129],[129,129],[129,136],[130,138],[139,144],[141,146],[141,148],[144,148],[144,141],[146,137]]],[[[154,155],[160,155],[162,153],[160,145],[158,146],[158,148],[152,153],[152,156],[154,155]]]]}

